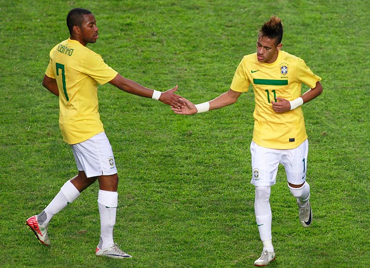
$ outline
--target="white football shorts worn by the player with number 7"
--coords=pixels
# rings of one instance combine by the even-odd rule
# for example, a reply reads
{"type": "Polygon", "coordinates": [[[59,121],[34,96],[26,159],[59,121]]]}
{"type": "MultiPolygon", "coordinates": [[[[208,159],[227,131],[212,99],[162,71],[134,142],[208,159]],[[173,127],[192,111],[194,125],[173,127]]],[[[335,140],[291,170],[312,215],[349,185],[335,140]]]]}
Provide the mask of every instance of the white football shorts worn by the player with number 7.
{"type": "Polygon", "coordinates": [[[112,146],[105,132],[101,132],[85,142],[73,144],[71,147],[77,169],[85,171],[87,177],[117,173],[112,146]]]}

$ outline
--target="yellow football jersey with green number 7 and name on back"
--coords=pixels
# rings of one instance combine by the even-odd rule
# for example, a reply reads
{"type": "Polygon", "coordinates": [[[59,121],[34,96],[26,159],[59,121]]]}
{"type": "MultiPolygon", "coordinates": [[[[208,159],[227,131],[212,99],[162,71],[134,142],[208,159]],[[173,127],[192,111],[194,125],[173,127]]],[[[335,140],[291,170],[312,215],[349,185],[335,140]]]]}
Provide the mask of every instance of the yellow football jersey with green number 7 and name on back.
{"type": "Polygon", "coordinates": [[[65,142],[80,143],[104,131],[98,111],[98,83],[109,82],[117,72],[99,54],[68,38],[50,51],[45,74],[57,80],[59,127],[65,142]]]}

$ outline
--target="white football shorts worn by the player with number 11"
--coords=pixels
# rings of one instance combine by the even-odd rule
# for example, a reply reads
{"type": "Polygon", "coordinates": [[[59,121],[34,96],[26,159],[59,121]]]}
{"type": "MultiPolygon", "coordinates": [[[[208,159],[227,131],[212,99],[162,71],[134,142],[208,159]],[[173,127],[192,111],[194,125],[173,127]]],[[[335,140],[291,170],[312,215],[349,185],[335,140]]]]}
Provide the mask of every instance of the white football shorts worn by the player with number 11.
{"type": "Polygon", "coordinates": [[[277,150],[251,143],[252,180],[254,186],[272,186],[276,183],[279,164],[285,168],[287,181],[301,185],[306,181],[308,140],[294,149],[277,150]]]}

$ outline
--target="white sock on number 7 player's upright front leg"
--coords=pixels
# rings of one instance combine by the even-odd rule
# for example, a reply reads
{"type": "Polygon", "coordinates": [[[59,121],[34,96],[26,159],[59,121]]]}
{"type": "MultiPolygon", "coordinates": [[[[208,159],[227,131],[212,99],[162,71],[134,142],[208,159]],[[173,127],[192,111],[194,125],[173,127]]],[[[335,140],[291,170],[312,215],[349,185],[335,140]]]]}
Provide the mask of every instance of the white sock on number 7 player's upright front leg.
{"type": "Polygon", "coordinates": [[[118,205],[118,193],[99,190],[98,206],[100,214],[99,248],[104,249],[114,244],[113,227],[118,205]]]}

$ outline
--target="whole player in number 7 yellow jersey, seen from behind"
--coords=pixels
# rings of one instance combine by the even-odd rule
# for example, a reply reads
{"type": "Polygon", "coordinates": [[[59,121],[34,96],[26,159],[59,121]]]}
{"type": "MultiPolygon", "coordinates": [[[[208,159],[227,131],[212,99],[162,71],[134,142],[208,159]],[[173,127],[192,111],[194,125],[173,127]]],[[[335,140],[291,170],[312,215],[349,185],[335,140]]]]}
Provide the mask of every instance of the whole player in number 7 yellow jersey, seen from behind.
{"type": "Polygon", "coordinates": [[[49,246],[48,226],[51,218],[98,180],[100,241],[97,256],[127,258],[113,241],[113,227],[118,202],[118,175],[112,148],[105,135],[98,112],[98,84],[111,83],[120,90],[141,97],[179,105],[177,86],[166,92],[146,88],[119,75],[102,57],[88,49],[98,39],[99,28],[94,15],[86,9],[73,9],[67,15],[70,37],[50,51],[50,62],[43,85],[59,96],[59,126],[66,143],[71,145],[78,174],[67,181],[49,205],[26,224],[37,239],[49,246]]]}

